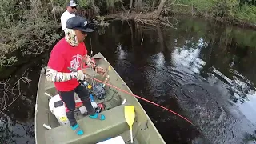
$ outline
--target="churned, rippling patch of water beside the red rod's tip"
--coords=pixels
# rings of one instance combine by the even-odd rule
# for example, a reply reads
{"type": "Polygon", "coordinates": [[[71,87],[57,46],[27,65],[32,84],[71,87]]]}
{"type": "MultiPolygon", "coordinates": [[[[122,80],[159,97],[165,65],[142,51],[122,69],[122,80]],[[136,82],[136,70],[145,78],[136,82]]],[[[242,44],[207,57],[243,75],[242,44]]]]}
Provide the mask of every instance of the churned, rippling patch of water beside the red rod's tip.
{"type": "Polygon", "coordinates": [[[216,101],[218,93],[209,90],[209,86],[186,84],[178,87],[175,95],[182,109],[186,110],[190,119],[210,142],[242,142],[242,134],[239,134],[242,129],[238,126],[238,121],[226,114],[226,110],[216,101]]]}

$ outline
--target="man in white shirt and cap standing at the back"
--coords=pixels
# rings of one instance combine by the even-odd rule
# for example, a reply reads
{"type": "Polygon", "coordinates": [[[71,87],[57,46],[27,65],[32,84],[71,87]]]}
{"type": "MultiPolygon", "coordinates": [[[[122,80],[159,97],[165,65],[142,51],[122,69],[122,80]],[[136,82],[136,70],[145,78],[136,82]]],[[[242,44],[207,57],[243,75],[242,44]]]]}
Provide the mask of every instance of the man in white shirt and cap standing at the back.
{"type": "Polygon", "coordinates": [[[75,17],[74,12],[77,10],[77,4],[74,2],[74,0],[70,0],[70,2],[67,3],[66,11],[61,16],[61,23],[62,23],[62,30],[64,30],[66,34],[66,21],[69,18],[75,17]]]}

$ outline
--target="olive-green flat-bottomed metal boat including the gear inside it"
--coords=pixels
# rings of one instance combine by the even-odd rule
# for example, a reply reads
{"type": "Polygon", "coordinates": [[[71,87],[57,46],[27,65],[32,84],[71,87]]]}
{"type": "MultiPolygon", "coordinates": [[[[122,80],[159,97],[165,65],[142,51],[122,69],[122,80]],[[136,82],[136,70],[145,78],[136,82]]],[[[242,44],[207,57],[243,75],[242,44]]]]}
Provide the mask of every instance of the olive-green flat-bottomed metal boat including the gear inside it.
{"type": "MultiPolygon", "coordinates": [[[[132,93],[101,53],[95,54],[93,58],[98,66],[107,68],[108,74],[102,78],[90,69],[86,70],[88,71],[87,74],[132,93]]],[[[94,104],[96,102],[96,107],[94,108],[105,114],[106,119],[100,121],[89,118],[86,115],[85,106],[81,105],[81,101],[79,104],[79,98],[75,94],[75,117],[84,131],[82,136],[78,136],[69,126],[65,115],[65,106],[59,98],[54,83],[46,81],[45,70],[46,68],[42,68],[35,106],[35,141],[37,144],[131,143],[130,129],[125,118],[125,106],[134,106],[135,118],[132,125],[134,144],[166,143],[137,98],[111,86],[102,86],[102,84],[94,80],[87,81],[92,86],[90,90],[94,91],[92,93],[94,94],[94,104]],[[98,89],[98,91],[103,92],[95,94],[99,85],[103,89],[98,89]]]]}

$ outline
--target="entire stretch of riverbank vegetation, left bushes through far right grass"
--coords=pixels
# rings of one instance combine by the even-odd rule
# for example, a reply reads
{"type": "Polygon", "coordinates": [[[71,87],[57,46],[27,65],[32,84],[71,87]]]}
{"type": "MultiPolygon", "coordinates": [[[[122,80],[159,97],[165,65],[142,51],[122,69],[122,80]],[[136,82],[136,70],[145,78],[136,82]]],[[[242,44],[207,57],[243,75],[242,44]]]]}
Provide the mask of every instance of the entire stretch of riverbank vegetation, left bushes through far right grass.
{"type": "MultiPolygon", "coordinates": [[[[98,19],[99,27],[107,26],[105,18],[134,19],[136,22],[173,26],[173,14],[216,18],[234,24],[253,26],[256,2],[252,0],[77,0],[77,14],[98,19]]],[[[41,54],[61,37],[60,16],[66,1],[2,0],[0,2],[0,66],[18,61],[10,54],[41,54]],[[10,54],[10,55],[9,55],[10,54]]],[[[1,71],[1,70],[0,70],[1,71]]]]}

